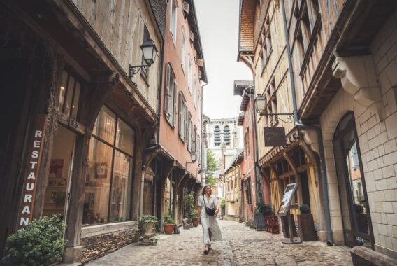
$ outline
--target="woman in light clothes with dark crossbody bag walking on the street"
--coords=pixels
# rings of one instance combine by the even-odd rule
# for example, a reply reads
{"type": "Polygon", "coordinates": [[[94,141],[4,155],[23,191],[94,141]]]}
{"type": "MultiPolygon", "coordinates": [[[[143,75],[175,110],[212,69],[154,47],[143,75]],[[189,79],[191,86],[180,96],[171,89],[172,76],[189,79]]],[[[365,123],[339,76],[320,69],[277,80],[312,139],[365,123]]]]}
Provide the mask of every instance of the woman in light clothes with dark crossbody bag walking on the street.
{"type": "Polygon", "coordinates": [[[203,225],[204,254],[211,249],[211,240],[222,240],[222,232],[217,223],[219,207],[214,195],[211,195],[211,186],[205,185],[198,198],[198,223],[203,225]]]}

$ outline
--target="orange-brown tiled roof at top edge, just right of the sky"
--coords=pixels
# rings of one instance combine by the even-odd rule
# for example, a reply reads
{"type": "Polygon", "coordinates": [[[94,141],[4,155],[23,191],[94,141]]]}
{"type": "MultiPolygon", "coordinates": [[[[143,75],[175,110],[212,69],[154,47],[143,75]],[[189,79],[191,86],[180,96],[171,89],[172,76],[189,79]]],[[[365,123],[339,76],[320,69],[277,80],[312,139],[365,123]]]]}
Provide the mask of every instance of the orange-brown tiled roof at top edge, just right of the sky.
{"type": "Polygon", "coordinates": [[[240,0],[238,54],[254,51],[254,18],[256,0],[240,0]]]}

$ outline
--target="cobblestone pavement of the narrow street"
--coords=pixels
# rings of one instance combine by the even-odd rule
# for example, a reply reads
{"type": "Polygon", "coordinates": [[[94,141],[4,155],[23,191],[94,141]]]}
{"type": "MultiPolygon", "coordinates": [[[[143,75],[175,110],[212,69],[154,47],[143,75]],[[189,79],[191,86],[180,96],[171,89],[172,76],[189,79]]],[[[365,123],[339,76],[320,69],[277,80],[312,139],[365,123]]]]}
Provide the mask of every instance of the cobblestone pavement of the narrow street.
{"type": "Polygon", "coordinates": [[[159,235],[157,246],[131,244],[93,260],[95,265],[352,265],[349,248],[319,241],[282,244],[282,234],[247,228],[243,223],[219,221],[224,240],[203,255],[201,225],[180,235],[159,235]]]}

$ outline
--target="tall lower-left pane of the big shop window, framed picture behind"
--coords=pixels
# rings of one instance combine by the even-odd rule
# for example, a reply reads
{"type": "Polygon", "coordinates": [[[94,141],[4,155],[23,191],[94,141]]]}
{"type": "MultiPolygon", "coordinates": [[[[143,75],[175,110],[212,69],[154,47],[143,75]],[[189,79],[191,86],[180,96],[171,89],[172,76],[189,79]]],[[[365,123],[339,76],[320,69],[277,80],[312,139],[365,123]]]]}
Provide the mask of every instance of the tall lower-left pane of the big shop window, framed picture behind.
{"type": "Polygon", "coordinates": [[[107,223],[112,148],[91,138],[85,179],[83,224],[107,223]]]}

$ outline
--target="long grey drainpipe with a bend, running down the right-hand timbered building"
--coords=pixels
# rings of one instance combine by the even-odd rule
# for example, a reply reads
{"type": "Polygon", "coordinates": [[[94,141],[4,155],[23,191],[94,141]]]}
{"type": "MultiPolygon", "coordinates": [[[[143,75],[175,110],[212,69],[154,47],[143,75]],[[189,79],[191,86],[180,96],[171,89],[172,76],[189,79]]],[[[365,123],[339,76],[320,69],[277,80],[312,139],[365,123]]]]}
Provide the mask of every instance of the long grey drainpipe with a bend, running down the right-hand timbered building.
{"type": "Polygon", "coordinates": [[[333,245],[333,236],[332,236],[332,231],[331,231],[331,214],[329,211],[329,197],[328,197],[328,186],[327,186],[327,176],[326,176],[322,131],[321,131],[320,127],[318,127],[318,126],[304,125],[302,123],[299,123],[298,107],[297,107],[298,105],[296,104],[294,69],[292,68],[291,48],[289,47],[289,33],[288,33],[288,26],[287,26],[287,15],[285,14],[284,0],[281,0],[281,8],[282,8],[282,18],[284,20],[285,42],[287,43],[288,69],[289,69],[289,77],[291,79],[292,104],[294,106],[294,111],[293,111],[294,124],[296,127],[310,128],[312,130],[315,130],[317,133],[317,140],[319,142],[319,160],[320,160],[320,172],[321,172],[321,179],[322,179],[324,215],[325,215],[325,220],[326,220],[326,239],[327,239],[326,244],[329,246],[332,246],[333,245]]]}

